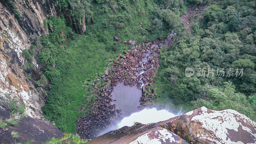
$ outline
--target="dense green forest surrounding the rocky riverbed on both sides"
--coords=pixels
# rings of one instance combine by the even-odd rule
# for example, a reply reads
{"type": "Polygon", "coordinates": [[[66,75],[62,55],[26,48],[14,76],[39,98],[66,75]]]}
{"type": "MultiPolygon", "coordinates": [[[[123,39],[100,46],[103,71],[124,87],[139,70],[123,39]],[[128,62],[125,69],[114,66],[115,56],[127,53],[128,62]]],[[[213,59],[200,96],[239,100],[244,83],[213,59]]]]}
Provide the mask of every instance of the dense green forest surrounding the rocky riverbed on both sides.
{"type": "MultiPolygon", "coordinates": [[[[44,116],[62,132],[75,132],[78,108],[92,99],[85,94],[86,79],[103,74],[106,61],[132,49],[114,41],[161,40],[176,32],[175,42],[162,48],[155,93],[159,104],[182,105],[184,109],[205,106],[213,110],[234,109],[256,118],[256,8],[254,0],[214,1],[191,31],[181,21],[189,7],[210,0],[59,0],[56,7],[72,7],[77,20],[84,17],[86,31],[72,31],[64,16],[44,20],[49,35],[38,38],[23,55],[32,62],[32,50],[41,47],[40,64],[50,81],[44,116]],[[67,36],[67,39],[63,38],[67,36]],[[146,36],[143,38],[142,36],[146,36]],[[167,50],[167,51],[166,51],[167,50]],[[243,76],[185,76],[185,68],[243,68],[243,76]],[[86,96],[88,99],[84,99],[86,96]]],[[[197,71],[198,72],[198,71],[197,71]]],[[[234,72],[235,74],[235,72],[234,72]]]]}

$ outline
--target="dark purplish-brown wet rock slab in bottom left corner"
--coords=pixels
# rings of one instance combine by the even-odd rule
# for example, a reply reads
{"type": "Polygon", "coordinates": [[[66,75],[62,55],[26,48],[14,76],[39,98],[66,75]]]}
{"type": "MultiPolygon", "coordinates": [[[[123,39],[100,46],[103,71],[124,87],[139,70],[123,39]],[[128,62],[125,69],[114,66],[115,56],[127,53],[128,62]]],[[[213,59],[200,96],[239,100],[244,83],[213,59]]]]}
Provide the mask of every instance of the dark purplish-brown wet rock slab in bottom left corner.
{"type": "MultiPolygon", "coordinates": [[[[0,111],[0,117],[9,117],[9,115],[6,115],[8,113],[10,114],[8,110],[0,107],[0,111]]],[[[13,142],[12,136],[9,136],[9,133],[5,131],[6,129],[9,131],[14,130],[15,132],[18,132],[20,137],[16,139],[16,143],[28,140],[33,140],[34,143],[42,143],[44,141],[48,141],[52,137],[63,137],[62,132],[60,132],[58,128],[54,127],[48,120],[32,117],[21,118],[20,123],[16,126],[7,125],[4,129],[0,128],[0,143],[4,142],[14,144],[15,142],[13,142]]]]}

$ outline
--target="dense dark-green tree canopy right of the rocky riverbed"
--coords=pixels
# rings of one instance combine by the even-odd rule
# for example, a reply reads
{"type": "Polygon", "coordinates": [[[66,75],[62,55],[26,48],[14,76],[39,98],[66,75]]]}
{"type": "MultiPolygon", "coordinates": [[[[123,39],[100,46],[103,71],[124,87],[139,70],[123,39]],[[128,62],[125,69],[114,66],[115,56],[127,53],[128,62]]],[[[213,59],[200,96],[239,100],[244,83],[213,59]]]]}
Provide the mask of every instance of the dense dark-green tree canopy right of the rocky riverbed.
{"type": "Polygon", "coordinates": [[[201,106],[231,108],[254,120],[255,22],[253,0],[224,0],[209,6],[202,22],[192,24],[189,36],[181,36],[167,52],[161,50],[156,77],[158,101],[170,100],[190,110],[201,106]],[[187,67],[196,73],[206,68],[205,76],[186,77],[187,67]],[[216,70],[213,76],[207,76],[208,68],[216,70]],[[244,68],[243,76],[216,76],[218,68],[234,68],[234,74],[236,68],[244,68]]]}

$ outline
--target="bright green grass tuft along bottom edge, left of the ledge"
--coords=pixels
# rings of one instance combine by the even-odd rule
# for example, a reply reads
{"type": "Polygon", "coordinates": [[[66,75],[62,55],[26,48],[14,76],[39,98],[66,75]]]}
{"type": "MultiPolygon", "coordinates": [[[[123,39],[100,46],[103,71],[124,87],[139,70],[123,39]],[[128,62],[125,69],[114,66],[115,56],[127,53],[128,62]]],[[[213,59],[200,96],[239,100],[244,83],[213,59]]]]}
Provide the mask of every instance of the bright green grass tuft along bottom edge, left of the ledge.
{"type": "Polygon", "coordinates": [[[72,133],[69,133],[60,139],[52,138],[52,140],[43,142],[43,144],[58,144],[59,142],[61,142],[63,140],[66,140],[65,142],[69,144],[71,142],[68,141],[68,139],[71,139],[71,142],[75,142],[76,144],[86,143],[86,142],[90,141],[90,140],[81,140],[80,137],[78,137],[72,133]]]}

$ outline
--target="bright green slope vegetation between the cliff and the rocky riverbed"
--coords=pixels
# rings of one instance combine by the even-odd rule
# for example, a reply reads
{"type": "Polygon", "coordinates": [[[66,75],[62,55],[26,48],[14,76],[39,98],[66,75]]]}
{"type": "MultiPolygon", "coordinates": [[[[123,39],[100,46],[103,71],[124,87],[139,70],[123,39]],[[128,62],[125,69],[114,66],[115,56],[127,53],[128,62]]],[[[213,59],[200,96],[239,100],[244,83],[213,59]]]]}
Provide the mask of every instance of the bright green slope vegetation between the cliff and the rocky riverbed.
{"type": "MultiPolygon", "coordinates": [[[[71,14],[76,20],[83,15],[86,19],[85,34],[74,34],[75,40],[67,38],[67,45],[61,33],[64,31],[69,37],[73,32],[63,18],[56,16],[44,20],[45,28],[52,28],[52,32],[49,30],[49,35],[40,38],[44,49],[38,55],[39,63],[46,63],[44,75],[51,83],[48,100],[42,110],[44,116],[62,132],[75,132],[78,108],[88,103],[85,97],[93,99],[86,92],[86,84],[93,79],[87,80],[92,75],[95,78],[97,74],[104,73],[106,61],[126,48],[122,42],[132,39],[140,44],[145,41],[143,35],[146,40],[155,40],[168,36],[171,29],[177,32],[184,30],[179,15],[186,11],[186,6],[179,0],[166,1],[173,6],[169,8],[157,3],[152,0],[56,2],[56,6],[67,8],[70,5],[74,8],[71,14]],[[114,36],[119,38],[118,42],[114,41],[114,36]]],[[[127,49],[131,48],[129,45],[127,49]]]]}

